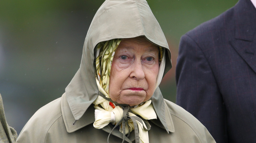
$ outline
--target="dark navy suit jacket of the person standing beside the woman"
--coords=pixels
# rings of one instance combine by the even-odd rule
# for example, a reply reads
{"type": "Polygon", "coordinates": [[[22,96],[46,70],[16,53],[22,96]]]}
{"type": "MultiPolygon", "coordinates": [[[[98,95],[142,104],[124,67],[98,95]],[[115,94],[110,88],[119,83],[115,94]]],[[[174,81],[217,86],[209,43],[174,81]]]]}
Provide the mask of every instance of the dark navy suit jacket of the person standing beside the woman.
{"type": "Polygon", "coordinates": [[[217,143],[256,143],[256,9],[250,0],[181,37],[177,104],[217,143]]]}

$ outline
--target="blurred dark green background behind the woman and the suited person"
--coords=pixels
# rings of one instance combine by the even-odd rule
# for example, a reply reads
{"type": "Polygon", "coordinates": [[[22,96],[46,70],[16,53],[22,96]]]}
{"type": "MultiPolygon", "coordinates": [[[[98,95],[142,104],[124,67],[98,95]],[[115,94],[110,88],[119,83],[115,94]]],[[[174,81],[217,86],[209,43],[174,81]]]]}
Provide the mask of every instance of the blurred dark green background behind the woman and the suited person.
{"type": "MultiPolygon", "coordinates": [[[[91,20],[103,1],[0,0],[0,93],[8,123],[18,133],[36,110],[65,92],[79,68],[91,20]]],[[[173,68],[160,84],[164,98],[175,102],[180,37],[236,3],[148,0],[172,52],[173,68]]]]}

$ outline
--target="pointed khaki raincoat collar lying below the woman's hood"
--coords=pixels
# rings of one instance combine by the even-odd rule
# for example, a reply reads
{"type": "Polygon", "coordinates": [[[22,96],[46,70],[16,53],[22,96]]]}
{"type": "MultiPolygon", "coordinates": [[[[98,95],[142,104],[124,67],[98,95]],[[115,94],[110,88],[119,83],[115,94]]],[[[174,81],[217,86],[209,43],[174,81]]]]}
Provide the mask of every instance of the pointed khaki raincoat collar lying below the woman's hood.
{"type": "MultiPolygon", "coordinates": [[[[159,88],[157,88],[157,90],[155,92],[160,92],[159,88]]],[[[156,99],[152,99],[152,102],[159,102],[161,104],[158,104],[159,107],[155,107],[157,108],[157,116],[158,119],[153,119],[150,120],[152,123],[156,124],[157,126],[161,127],[162,129],[166,130],[167,133],[171,132],[174,133],[174,124],[173,124],[173,120],[171,118],[171,114],[170,111],[166,105],[166,103],[164,102],[163,98],[161,98],[161,100],[159,101],[156,99]]],[[[92,124],[94,122],[94,107],[93,106],[89,106],[89,108],[85,111],[84,115],[76,120],[72,114],[72,111],[68,105],[68,101],[66,98],[66,93],[64,93],[61,97],[61,113],[62,113],[62,117],[66,126],[66,130],[68,133],[72,133],[75,132],[78,129],[81,129],[89,124],[92,124]]],[[[110,133],[110,131],[112,130],[109,126],[106,126],[103,128],[104,131],[110,133]]],[[[119,131],[118,131],[119,132],[119,131]]],[[[116,136],[122,138],[121,132],[119,133],[115,133],[116,136]],[[120,135],[118,135],[120,133],[120,135]]],[[[133,134],[131,134],[133,135],[133,134]]],[[[133,138],[131,136],[131,138],[133,138]]]]}

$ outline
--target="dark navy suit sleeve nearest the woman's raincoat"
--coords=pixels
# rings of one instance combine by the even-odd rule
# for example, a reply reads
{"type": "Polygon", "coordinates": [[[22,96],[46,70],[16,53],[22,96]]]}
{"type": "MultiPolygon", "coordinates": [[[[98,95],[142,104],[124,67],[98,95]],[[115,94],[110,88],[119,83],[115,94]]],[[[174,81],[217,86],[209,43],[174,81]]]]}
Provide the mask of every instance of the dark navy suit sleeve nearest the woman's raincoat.
{"type": "Polygon", "coordinates": [[[181,37],[176,67],[176,103],[203,123],[216,142],[222,143],[227,140],[226,111],[209,64],[211,58],[207,59],[188,35],[181,37]]]}

